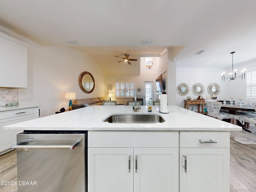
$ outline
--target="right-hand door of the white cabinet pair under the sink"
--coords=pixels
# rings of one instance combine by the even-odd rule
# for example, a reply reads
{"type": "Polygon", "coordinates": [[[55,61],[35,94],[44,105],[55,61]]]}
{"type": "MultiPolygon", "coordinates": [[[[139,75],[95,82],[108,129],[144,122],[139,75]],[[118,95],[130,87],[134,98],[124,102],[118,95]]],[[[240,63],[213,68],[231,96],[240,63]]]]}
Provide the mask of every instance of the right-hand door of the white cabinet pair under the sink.
{"type": "Polygon", "coordinates": [[[133,158],[134,192],[178,192],[178,148],[134,148],[133,158]]]}

